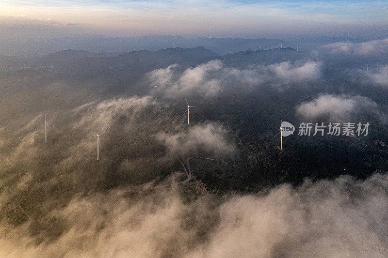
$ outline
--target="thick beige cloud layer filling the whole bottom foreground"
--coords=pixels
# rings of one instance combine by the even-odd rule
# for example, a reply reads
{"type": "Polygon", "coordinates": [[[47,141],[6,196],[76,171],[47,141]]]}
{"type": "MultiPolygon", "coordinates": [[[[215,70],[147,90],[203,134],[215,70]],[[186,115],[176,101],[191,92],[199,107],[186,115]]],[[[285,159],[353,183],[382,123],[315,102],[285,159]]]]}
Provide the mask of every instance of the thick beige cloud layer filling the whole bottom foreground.
{"type": "MultiPolygon", "coordinates": [[[[42,220],[60,224],[26,235],[0,228],[1,256],[19,257],[387,257],[388,180],[340,177],[284,184],[268,194],[202,196],[122,189],[74,197],[42,220]],[[40,242],[45,234],[62,233],[40,242]]],[[[28,222],[32,223],[32,222],[28,222]]]]}

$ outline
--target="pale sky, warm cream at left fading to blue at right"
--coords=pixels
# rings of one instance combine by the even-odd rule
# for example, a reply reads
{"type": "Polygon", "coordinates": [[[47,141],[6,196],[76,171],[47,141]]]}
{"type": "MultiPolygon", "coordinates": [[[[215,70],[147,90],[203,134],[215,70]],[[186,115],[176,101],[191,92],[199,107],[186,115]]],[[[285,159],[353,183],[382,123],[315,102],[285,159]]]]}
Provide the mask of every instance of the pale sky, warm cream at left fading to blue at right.
{"type": "Polygon", "coordinates": [[[382,39],[388,2],[367,0],[1,0],[3,33],[382,39]],[[12,32],[13,31],[13,32],[12,32]]]}

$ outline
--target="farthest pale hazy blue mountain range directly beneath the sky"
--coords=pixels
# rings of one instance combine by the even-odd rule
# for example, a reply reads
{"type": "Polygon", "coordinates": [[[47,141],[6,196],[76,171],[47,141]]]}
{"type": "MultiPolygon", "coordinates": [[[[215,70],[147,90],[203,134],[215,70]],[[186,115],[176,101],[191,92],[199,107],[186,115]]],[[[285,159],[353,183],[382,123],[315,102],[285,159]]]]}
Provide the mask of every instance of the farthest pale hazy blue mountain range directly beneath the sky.
{"type": "Polygon", "coordinates": [[[244,50],[273,49],[280,47],[299,47],[310,51],[319,46],[334,42],[362,42],[349,37],[300,37],[292,41],[281,39],[243,39],[243,38],[199,38],[186,39],[177,36],[142,36],[142,37],[108,37],[108,36],[73,36],[55,39],[21,40],[1,38],[0,52],[7,55],[26,57],[26,53],[47,55],[63,49],[83,50],[93,53],[132,52],[139,50],[156,51],[171,47],[195,48],[203,46],[219,55],[244,50]],[[12,51],[10,50],[12,49],[12,51]]]}

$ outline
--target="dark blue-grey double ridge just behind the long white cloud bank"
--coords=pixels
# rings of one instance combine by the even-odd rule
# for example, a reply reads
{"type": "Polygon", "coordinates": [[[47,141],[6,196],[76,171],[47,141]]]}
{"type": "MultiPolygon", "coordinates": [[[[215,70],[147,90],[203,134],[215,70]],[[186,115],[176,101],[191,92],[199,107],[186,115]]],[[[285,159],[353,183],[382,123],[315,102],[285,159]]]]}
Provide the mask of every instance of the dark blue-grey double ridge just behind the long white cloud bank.
{"type": "MultiPolygon", "coordinates": [[[[195,48],[175,47],[158,51],[134,51],[117,57],[80,58],[77,61],[67,64],[65,69],[70,69],[77,73],[87,71],[87,73],[99,76],[104,74],[122,73],[125,70],[144,73],[174,63],[178,63],[182,67],[189,67],[212,59],[219,59],[226,65],[234,66],[271,64],[282,62],[283,59],[295,61],[302,59],[307,55],[307,52],[297,51],[291,47],[270,50],[240,51],[226,55],[218,55],[202,46],[195,48]]],[[[60,63],[58,63],[58,65],[60,65],[60,63]]]]}

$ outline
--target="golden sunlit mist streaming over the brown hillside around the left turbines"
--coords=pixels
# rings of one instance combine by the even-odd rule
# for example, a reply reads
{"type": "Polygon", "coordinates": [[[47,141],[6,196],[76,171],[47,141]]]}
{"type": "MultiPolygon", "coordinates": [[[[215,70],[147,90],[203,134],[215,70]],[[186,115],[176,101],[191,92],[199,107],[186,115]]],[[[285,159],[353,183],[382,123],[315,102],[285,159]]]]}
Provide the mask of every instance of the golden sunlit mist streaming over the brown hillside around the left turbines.
{"type": "Polygon", "coordinates": [[[48,126],[47,143],[44,127],[36,130],[43,122],[39,115],[12,132],[12,137],[3,134],[0,139],[0,215],[16,219],[16,225],[25,216],[7,212],[20,200],[36,218],[77,194],[139,185],[183,171],[177,155],[182,159],[188,154],[226,157],[235,151],[234,137],[221,124],[188,127],[180,109],[177,114],[174,106],[152,97],[92,101],[50,113],[48,122],[57,127],[48,126]],[[97,137],[85,134],[96,135],[107,128],[100,137],[97,162],[97,137]]]}

